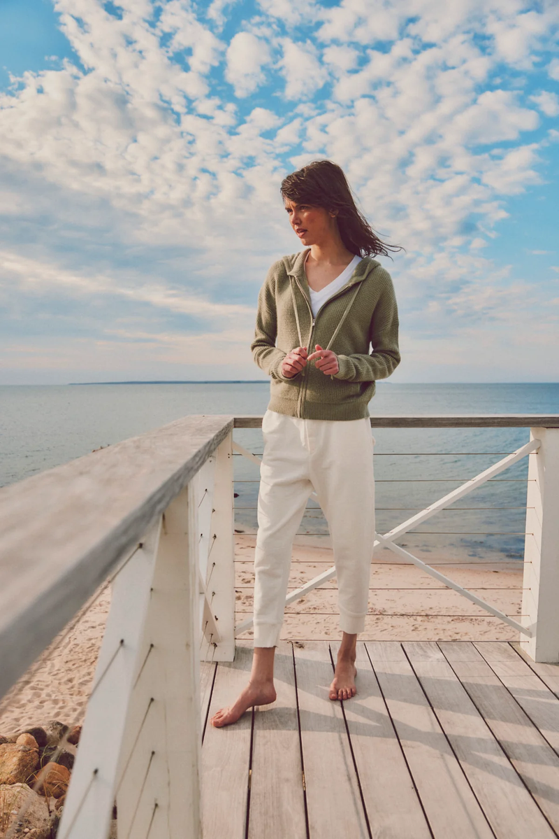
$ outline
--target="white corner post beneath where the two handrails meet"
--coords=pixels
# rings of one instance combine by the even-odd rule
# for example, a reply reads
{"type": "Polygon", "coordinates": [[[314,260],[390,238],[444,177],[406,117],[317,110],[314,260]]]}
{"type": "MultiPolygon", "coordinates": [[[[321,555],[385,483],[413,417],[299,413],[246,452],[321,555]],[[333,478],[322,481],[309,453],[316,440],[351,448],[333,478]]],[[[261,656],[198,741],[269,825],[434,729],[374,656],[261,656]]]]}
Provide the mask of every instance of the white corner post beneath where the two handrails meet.
{"type": "Polygon", "coordinates": [[[215,452],[215,483],[211,516],[210,555],[206,581],[211,612],[220,633],[215,649],[203,644],[202,656],[213,661],[235,658],[235,545],[233,514],[233,435],[215,452]]]}

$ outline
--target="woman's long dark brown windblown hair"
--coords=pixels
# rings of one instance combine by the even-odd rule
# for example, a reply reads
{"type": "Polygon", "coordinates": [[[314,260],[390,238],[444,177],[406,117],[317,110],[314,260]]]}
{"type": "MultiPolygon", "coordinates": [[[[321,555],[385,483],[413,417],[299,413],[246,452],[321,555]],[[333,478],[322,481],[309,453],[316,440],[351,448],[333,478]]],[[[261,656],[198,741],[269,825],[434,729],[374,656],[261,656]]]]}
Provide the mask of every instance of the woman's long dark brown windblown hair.
{"type": "Polygon", "coordinates": [[[344,172],[331,160],[314,160],[282,180],[280,191],[285,201],[320,206],[337,211],[339,235],[345,247],[361,257],[388,251],[401,251],[400,245],[388,245],[373,232],[351,194],[344,172]]]}

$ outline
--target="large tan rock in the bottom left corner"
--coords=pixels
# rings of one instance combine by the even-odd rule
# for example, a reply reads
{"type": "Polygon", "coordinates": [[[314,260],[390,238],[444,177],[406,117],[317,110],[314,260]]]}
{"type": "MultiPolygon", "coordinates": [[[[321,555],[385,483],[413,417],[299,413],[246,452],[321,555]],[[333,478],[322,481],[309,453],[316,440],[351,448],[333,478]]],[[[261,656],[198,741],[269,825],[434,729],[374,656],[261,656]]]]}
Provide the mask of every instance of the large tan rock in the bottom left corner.
{"type": "Polygon", "coordinates": [[[50,839],[49,808],[44,798],[27,784],[0,784],[0,831],[12,828],[16,836],[28,839],[50,839]]]}

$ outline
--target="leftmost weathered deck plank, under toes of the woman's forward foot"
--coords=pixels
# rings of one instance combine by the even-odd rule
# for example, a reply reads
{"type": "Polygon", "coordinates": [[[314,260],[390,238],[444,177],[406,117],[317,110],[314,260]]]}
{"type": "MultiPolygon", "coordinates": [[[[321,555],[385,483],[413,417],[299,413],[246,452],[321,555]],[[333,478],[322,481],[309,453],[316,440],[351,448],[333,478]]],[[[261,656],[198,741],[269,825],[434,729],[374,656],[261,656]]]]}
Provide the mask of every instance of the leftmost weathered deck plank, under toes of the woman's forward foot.
{"type": "MultiPolygon", "coordinates": [[[[237,642],[235,661],[218,665],[210,717],[236,699],[248,681],[251,661],[251,645],[237,642]]],[[[250,750],[250,712],[234,726],[214,728],[208,722],[202,747],[204,837],[244,839],[250,750]]]]}

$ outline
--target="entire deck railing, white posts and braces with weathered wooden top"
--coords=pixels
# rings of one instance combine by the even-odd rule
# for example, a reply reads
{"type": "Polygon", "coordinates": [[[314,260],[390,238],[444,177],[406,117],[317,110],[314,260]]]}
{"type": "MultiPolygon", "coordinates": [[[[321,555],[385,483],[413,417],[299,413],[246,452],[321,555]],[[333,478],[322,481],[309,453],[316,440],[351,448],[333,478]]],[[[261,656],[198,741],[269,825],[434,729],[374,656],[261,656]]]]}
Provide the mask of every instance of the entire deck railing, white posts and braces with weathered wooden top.
{"type": "MultiPolygon", "coordinates": [[[[0,695],[101,585],[112,587],[59,839],[104,839],[115,797],[119,836],[143,839],[152,826],[154,836],[201,835],[199,659],[235,654],[232,453],[242,447],[232,435],[260,425],[186,417],[0,491],[0,695]]],[[[559,416],[374,417],[371,426],[531,428],[525,446],[419,518],[530,456],[523,617],[512,623],[533,659],[559,661],[559,416]]],[[[441,580],[395,544],[410,521],[378,543],[441,580]]]]}

